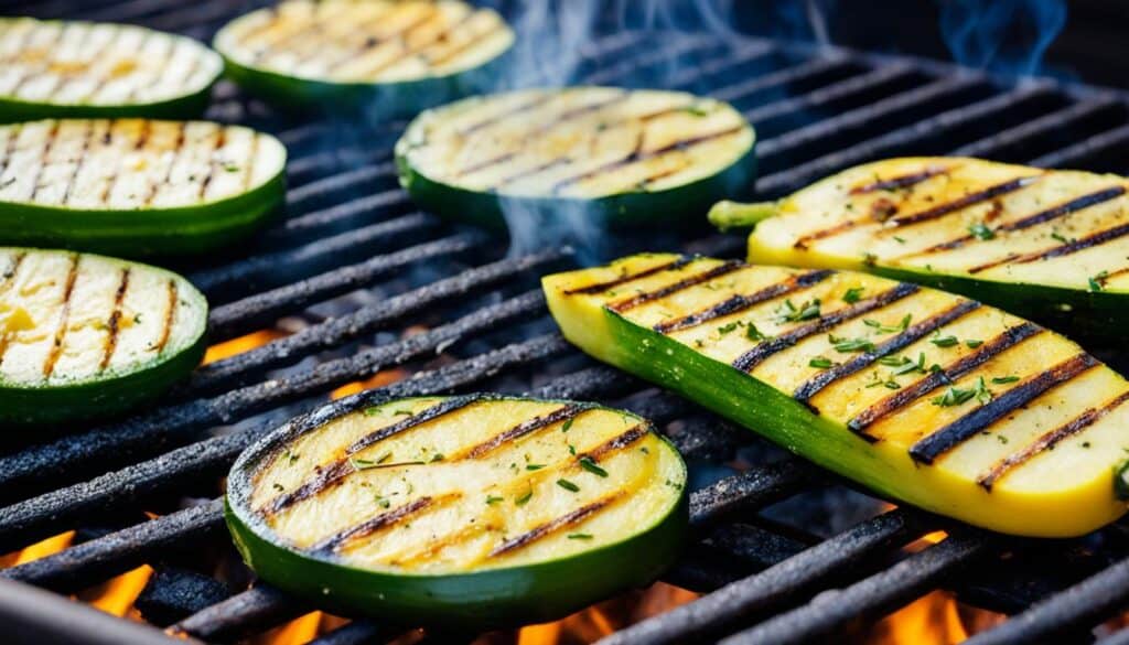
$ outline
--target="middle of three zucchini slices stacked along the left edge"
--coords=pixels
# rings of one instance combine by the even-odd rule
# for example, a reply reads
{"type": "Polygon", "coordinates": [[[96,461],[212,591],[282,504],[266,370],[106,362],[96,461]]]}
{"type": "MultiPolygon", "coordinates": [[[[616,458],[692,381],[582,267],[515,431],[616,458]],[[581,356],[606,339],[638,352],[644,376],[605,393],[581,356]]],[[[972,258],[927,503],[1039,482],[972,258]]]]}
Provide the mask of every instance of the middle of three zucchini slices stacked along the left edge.
{"type": "Polygon", "coordinates": [[[211,250],[283,200],[286,149],[202,121],[0,127],[0,243],[120,255],[211,250]]]}

